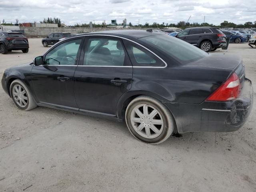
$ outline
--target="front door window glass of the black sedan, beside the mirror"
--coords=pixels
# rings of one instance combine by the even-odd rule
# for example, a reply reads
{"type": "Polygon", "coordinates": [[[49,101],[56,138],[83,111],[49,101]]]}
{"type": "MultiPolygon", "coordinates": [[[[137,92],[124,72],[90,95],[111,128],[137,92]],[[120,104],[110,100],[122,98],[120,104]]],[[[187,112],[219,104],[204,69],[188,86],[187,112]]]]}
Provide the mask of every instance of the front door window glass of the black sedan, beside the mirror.
{"type": "Polygon", "coordinates": [[[56,46],[46,54],[44,65],[74,65],[80,44],[81,39],[76,39],[56,46]]]}

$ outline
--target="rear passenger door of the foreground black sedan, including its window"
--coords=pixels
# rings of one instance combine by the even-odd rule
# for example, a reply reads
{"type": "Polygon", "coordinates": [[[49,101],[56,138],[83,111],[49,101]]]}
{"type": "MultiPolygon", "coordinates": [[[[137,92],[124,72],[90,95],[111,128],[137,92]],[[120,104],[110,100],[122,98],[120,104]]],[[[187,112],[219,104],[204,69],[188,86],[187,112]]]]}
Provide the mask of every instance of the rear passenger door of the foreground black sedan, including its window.
{"type": "Polygon", "coordinates": [[[86,38],[85,52],[74,74],[81,111],[115,115],[119,98],[132,86],[132,66],[119,38],[86,38]]]}

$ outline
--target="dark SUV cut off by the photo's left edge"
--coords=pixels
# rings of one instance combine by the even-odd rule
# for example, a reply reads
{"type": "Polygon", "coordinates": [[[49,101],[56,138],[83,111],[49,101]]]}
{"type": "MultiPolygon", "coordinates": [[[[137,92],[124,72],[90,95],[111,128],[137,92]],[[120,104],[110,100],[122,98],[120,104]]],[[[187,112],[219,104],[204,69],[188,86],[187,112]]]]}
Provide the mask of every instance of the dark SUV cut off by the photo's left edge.
{"type": "Polygon", "coordinates": [[[0,52],[6,54],[12,50],[28,52],[28,38],[18,32],[0,32],[0,52]]]}

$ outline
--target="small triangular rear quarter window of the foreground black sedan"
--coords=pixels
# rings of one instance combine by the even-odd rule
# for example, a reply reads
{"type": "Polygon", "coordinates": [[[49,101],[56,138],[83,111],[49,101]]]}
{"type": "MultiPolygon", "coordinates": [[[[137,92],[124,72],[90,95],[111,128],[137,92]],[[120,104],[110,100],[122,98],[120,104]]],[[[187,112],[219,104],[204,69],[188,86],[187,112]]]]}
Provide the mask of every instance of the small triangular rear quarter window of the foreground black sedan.
{"type": "Polygon", "coordinates": [[[128,54],[133,66],[140,67],[164,67],[165,63],[157,58],[154,54],[144,49],[143,47],[132,42],[126,42],[128,54]]]}

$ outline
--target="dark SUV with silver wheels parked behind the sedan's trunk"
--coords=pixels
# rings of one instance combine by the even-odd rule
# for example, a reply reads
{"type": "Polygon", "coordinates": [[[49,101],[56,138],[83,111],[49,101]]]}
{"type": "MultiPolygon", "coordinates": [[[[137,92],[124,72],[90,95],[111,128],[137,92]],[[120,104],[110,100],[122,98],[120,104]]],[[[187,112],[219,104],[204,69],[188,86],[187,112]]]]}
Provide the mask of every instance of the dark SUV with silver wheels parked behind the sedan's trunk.
{"type": "Polygon", "coordinates": [[[188,28],[179,32],[176,37],[205,52],[226,47],[226,36],[216,27],[188,28]]]}

